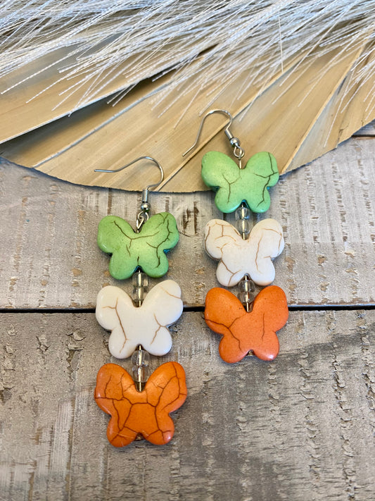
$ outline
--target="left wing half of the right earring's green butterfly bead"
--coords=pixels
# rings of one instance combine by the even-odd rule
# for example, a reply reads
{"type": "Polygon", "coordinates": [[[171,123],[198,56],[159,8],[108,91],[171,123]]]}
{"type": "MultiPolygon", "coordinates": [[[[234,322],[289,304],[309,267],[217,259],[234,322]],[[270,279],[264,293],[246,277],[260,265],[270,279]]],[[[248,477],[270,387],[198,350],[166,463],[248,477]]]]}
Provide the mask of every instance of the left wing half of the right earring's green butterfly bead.
{"type": "Polygon", "coordinates": [[[222,212],[233,212],[243,200],[239,166],[220,151],[208,151],[202,159],[202,179],[205,185],[217,190],[215,204],[222,212]]]}

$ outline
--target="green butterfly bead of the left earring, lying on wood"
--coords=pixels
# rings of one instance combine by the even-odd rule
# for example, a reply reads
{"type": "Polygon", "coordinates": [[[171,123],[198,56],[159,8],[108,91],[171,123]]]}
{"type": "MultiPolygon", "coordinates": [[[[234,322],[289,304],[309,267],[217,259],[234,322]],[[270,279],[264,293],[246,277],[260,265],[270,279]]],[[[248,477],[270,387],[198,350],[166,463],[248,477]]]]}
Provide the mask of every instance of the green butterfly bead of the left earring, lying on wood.
{"type": "Polygon", "coordinates": [[[162,277],[168,271],[165,253],[178,241],[177,223],[169,212],[151,216],[139,233],[117,216],[106,216],[98,225],[98,246],[112,254],[109,272],[118,280],[129,278],[138,267],[150,277],[162,277]]]}

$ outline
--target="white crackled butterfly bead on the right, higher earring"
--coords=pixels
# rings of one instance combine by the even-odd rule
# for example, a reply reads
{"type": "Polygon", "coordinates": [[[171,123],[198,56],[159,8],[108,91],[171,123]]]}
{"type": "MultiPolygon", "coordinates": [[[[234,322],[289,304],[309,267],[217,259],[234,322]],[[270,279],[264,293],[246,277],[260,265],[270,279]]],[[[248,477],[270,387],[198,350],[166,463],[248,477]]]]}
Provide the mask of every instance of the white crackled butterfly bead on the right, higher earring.
{"type": "Polygon", "coordinates": [[[248,274],[258,285],[269,285],[275,276],[272,259],[284,249],[281,225],[274,219],[257,223],[247,240],[227,221],[211,219],[205,226],[205,249],[217,265],[217,280],[231,287],[248,274]]]}

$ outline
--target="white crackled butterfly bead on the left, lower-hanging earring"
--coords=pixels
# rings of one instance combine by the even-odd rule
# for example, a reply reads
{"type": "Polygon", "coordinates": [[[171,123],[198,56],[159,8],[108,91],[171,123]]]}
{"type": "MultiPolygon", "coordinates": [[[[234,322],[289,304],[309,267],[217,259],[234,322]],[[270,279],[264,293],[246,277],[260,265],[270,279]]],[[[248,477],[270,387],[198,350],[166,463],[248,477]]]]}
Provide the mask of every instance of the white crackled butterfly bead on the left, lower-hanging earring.
{"type": "Polygon", "coordinates": [[[148,292],[141,307],[120,287],[108,285],[98,293],[96,319],[106,330],[110,354],[130,357],[138,345],[153,355],[165,355],[172,347],[167,329],[182,314],[181,289],[174,280],[164,280],[148,292]]]}

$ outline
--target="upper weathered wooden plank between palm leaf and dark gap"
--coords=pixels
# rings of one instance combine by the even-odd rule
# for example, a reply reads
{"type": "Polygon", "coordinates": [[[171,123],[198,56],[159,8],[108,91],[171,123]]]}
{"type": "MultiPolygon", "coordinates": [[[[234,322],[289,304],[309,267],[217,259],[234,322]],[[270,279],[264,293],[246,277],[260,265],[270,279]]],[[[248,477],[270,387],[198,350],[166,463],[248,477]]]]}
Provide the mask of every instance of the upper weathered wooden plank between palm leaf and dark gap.
{"type": "MultiPolygon", "coordinates": [[[[274,283],[291,306],[374,304],[374,158],[372,138],[351,139],[272,189],[262,217],[284,228],[274,283]]],[[[0,190],[0,308],[94,307],[98,290],[115,283],[96,245],[98,222],[106,214],[135,221],[140,196],[70,185],[6,162],[0,190]]],[[[222,218],[213,194],[151,194],[151,203],[154,213],[172,212],[181,232],[167,277],[181,285],[186,306],[201,307],[217,285],[202,237],[210,218],[222,218]]]]}

